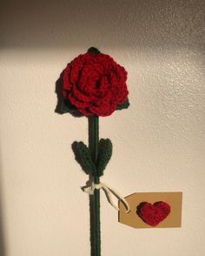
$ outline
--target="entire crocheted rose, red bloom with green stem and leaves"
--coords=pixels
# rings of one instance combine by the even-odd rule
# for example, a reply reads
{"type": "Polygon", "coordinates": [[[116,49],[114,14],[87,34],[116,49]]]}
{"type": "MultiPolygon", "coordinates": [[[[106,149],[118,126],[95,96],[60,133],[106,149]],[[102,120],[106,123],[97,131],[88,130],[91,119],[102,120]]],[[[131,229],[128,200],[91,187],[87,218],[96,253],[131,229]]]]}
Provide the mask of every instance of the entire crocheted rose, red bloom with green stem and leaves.
{"type": "Polygon", "coordinates": [[[74,58],[60,77],[60,113],[87,116],[89,121],[89,145],[75,141],[72,148],[76,161],[93,184],[92,190],[88,190],[92,256],[101,256],[100,188],[111,192],[100,182],[113,146],[109,138],[99,140],[99,117],[129,107],[126,81],[127,71],[112,57],[94,47],[74,58]]]}

